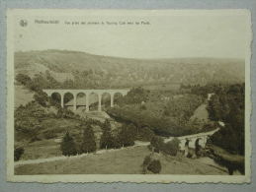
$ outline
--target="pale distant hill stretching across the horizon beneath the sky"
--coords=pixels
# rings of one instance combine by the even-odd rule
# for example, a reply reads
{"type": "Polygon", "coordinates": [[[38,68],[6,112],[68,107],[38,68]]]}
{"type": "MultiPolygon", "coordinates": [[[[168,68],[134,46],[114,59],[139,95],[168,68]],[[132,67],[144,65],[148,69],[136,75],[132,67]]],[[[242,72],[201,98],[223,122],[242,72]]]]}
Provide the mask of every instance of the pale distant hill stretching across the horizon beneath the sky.
{"type": "Polygon", "coordinates": [[[120,88],[146,85],[244,82],[244,61],[219,58],[129,59],[67,50],[15,53],[16,74],[49,71],[78,88],[120,88]]]}

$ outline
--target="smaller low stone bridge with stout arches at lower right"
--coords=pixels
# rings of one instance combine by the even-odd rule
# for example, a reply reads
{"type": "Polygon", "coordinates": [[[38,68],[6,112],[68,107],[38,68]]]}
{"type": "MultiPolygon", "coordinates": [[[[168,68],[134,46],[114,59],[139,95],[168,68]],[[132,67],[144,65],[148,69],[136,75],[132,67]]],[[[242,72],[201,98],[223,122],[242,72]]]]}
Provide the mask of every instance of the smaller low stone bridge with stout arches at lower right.
{"type": "MultiPolygon", "coordinates": [[[[185,150],[186,142],[188,141],[190,148],[196,148],[196,142],[198,140],[199,145],[203,148],[206,147],[208,138],[212,136],[215,132],[217,132],[219,128],[214,129],[213,131],[204,132],[204,133],[198,133],[193,135],[186,135],[182,137],[177,137],[177,139],[180,140],[180,149],[185,150]]],[[[164,142],[167,143],[169,141],[173,140],[173,137],[165,139],[164,142]]]]}

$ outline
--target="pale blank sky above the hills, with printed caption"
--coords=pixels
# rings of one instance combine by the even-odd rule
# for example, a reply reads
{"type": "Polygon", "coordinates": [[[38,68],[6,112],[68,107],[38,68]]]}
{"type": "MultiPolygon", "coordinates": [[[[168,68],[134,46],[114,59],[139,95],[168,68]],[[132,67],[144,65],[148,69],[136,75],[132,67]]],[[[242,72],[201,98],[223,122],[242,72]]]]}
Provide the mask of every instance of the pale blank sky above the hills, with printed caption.
{"type": "Polygon", "coordinates": [[[25,13],[15,17],[14,26],[16,51],[65,49],[127,58],[244,58],[249,25],[244,14],[84,12],[61,17],[25,13]],[[21,20],[28,25],[22,27],[21,20]],[[36,24],[35,20],[56,20],[58,24],[36,24]],[[79,25],[71,25],[72,22],[79,25]],[[89,22],[100,24],[88,25],[89,22]]]}

